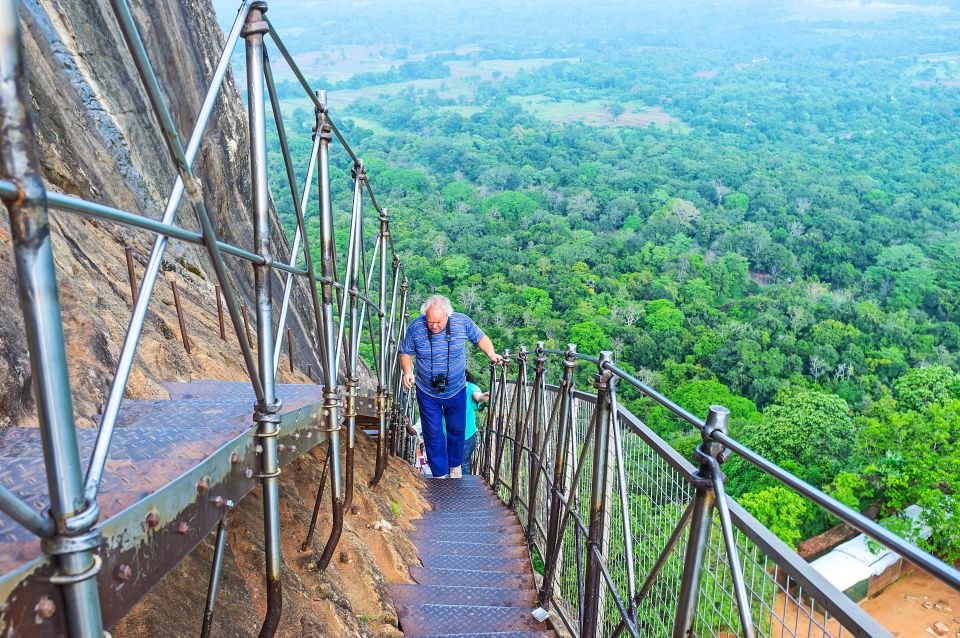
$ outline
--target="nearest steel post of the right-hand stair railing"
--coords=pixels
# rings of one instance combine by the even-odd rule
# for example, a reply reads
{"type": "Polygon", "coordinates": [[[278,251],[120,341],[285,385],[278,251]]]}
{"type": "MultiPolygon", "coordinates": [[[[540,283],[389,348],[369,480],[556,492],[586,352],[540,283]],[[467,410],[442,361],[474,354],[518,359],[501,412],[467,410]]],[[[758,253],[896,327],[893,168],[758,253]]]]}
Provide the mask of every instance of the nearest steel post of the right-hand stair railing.
{"type": "MultiPolygon", "coordinates": [[[[726,432],[729,414],[726,408],[710,406],[707,414],[709,432],[716,430],[726,432]]],[[[723,446],[710,440],[707,431],[707,429],[701,431],[703,441],[697,447],[700,469],[694,474],[693,512],[690,515],[690,533],[683,557],[683,576],[680,580],[673,638],[692,636],[693,623],[697,617],[697,603],[700,599],[700,583],[703,580],[704,557],[707,545],[710,543],[710,531],[713,525],[716,492],[713,489],[713,468],[705,458],[716,457],[723,451],[723,446]]]]}

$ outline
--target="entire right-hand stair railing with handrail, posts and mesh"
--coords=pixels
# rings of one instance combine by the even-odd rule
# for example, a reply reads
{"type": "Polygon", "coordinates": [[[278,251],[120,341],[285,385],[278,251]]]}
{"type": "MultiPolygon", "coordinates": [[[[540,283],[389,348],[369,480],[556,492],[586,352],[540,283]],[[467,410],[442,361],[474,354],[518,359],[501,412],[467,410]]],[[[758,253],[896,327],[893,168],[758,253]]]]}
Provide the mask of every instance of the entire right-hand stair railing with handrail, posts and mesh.
{"type": "Polygon", "coordinates": [[[478,473],[518,515],[538,567],[539,601],[581,638],[890,636],[724,492],[731,453],[937,579],[960,573],[727,434],[729,412],[701,420],[614,365],[525,348],[491,366],[478,473]],[[546,382],[559,358],[559,385],[546,382]],[[516,361],[516,373],[509,371],[516,361]],[[592,393],[575,387],[589,366],[592,393]],[[697,467],[617,400],[627,384],[696,427],[697,467]]]}

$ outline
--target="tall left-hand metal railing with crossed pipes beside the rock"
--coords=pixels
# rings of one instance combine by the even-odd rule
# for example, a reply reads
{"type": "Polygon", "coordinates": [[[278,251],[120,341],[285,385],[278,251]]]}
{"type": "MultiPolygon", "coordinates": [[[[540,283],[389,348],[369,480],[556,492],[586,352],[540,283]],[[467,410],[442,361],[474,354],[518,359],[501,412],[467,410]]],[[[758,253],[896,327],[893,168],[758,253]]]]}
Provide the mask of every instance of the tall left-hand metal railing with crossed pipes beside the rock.
{"type": "MultiPolygon", "coordinates": [[[[175,239],[203,245],[220,291],[217,304],[220,304],[222,293],[256,397],[252,416],[257,423],[255,436],[262,447],[259,478],[263,485],[267,592],[266,616],[260,635],[272,636],[280,620],[282,604],[278,494],[280,469],[277,447],[281,403],[276,395],[276,373],[294,276],[305,277],[308,281],[316,325],[316,343],[313,346],[322,362],[320,372],[323,409],[320,412],[322,423],[318,425],[318,429],[328,435],[329,464],[326,469],[329,469],[330,473],[333,524],[318,562],[320,570],[328,565],[334,553],[343,527],[344,508],[349,506],[353,495],[359,350],[365,326],[374,352],[377,373],[376,414],[379,437],[376,469],[371,485],[376,485],[383,476],[389,453],[408,452],[409,440],[400,436],[400,427],[402,417],[410,416],[412,401],[398,382],[397,365],[397,346],[407,318],[408,282],[403,276],[403,269],[393,248],[389,216],[374,197],[363,162],[331,121],[325,92],[314,91],[310,87],[273,25],[267,20],[265,2],[245,0],[240,3],[236,20],[228,32],[196,125],[186,145],[181,141],[170,109],[162,97],[150,56],[127,1],[111,0],[111,5],[153,115],[166,140],[167,150],[178,171],[160,221],[46,189],[30,115],[30,92],[19,32],[17,3],[14,0],[0,0],[0,198],[10,213],[50,499],[49,508],[40,514],[10,489],[0,486],[0,510],[43,539],[44,551],[56,559],[60,572],[51,582],[62,588],[70,635],[74,638],[99,638],[103,635],[97,581],[94,578],[101,564],[97,552],[102,543],[97,527],[100,515],[97,496],[111,441],[167,243],[175,239]],[[307,172],[299,183],[290,157],[274,86],[268,46],[264,37],[267,34],[315,107],[316,128],[312,151],[307,172]],[[240,38],[245,41],[246,51],[253,251],[218,240],[215,225],[193,171],[197,151],[220,93],[231,55],[240,38]],[[275,259],[270,241],[266,150],[268,102],[297,218],[289,263],[275,259]],[[331,205],[329,163],[330,145],[334,137],[353,162],[354,198],[346,268],[342,280],[337,273],[334,215],[331,205]],[[320,194],[319,272],[314,269],[305,226],[314,170],[317,171],[320,194]],[[301,184],[302,192],[298,188],[301,184]],[[199,233],[181,228],[176,223],[178,206],[184,198],[193,209],[199,223],[199,233]],[[365,201],[369,201],[373,206],[379,221],[379,232],[372,248],[373,256],[369,269],[368,249],[364,245],[365,201]],[[85,473],[77,445],[63,328],[59,320],[51,319],[60,317],[60,303],[50,242],[48,207],[116,222],[156,235],[144,276],[135,294],[129,328],[85,473]],[[225,263],[227,255],[250,262],[254,267],[256,347],[248,342],[246,336],[246,316],[225,263]],[[301,258],[303,267],[298,265],[301,258]],[[286,274],[276,328],[274,271],[286,274]],[[374,273],[378,276],[377,301],[370,298],[374,273]],[[389,296],[388,291],[391,293],[389,296]],[[345,364],[342,366],[345,369],[343,376],[338,372],[341,369],[341,360],[345,364]],[[341,385],[346,387],[346,396],[341,396],[341,385]],[[340,461],[341,417],[347,430],[343,468],[340,461]],[[402,442],[402,445],[398,442],[402,442]]],[[[325,480],[321,481],[318,488],[314,518],[310,524],[311,535],[320,509],[324,485],[325,480]]],[[[216,597],[225,544],[224,525],[225,520],[221,521],[217,535],[208,604],[204,615],[204,635],[209,630],[216,597]]]]}

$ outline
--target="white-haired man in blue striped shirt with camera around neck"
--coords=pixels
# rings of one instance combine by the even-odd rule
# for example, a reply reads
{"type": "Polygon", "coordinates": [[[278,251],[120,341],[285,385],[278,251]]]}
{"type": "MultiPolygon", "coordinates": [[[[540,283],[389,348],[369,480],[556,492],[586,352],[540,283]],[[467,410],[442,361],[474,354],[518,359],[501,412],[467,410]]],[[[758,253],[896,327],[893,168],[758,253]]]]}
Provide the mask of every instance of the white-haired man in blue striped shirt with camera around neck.
{"type": "Polygon", "coordinates": [[[463,475],[463,432],[466,426],[467,346],[469,340],[500,363],[493,342],[470,317],[453,311],[450,300],[433,295],[420,306],[420,316],[407,328],[400,346],[403,385],[417,384],[417,403],[430,471],[437,478],[463,475]],[[413,359],[417,371],[413,371],[413,359]],[[446,421],[447,434],[442,422],[446,421]]]}

